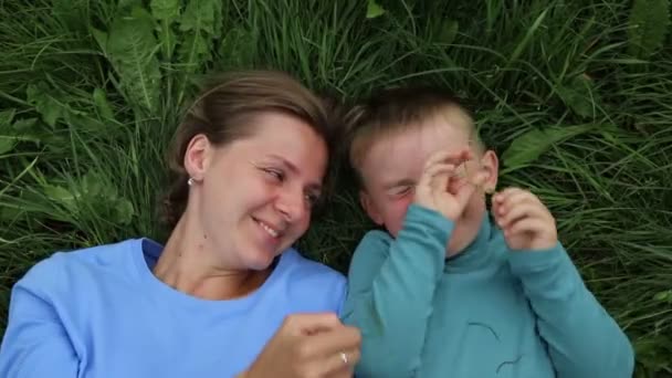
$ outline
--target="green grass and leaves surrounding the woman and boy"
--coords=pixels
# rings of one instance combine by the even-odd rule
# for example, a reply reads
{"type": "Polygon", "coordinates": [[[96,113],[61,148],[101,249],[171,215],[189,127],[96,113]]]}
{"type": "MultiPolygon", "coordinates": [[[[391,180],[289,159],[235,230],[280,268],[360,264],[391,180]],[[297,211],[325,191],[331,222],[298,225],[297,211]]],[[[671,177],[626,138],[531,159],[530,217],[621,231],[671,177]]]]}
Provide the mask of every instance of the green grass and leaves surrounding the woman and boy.
{"type": "MultiPolygon", "coordinates": [[[[638,375],[672,375],[669,1],[368,3],[0,1],[0,327],[35,261],[164,240],[164,146],[195,84],[275,67],[339,98],[411,80],[465,97],[502,186],[552,209],[638,375]]],[[[344,180],[301,246],[345,272],[369,227],[344,180]]]]}

